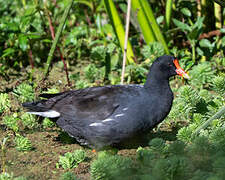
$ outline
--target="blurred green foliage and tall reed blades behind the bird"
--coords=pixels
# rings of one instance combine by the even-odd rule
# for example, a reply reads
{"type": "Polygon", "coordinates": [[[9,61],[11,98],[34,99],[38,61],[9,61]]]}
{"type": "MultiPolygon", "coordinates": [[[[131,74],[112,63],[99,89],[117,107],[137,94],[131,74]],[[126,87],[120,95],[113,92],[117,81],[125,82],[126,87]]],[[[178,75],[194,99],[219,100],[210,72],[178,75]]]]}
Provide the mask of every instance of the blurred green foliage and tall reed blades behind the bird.
{"type": "MultiPolygon", "coordinates": [[[[28,66],[46,66],[53,37],[69,3],[66,0],[0,1],[0,74],[4,78],[11,68],[20,71],[28,66]]],[[[224,13],[224,8],[213,1],[133,0],[128,63],[135,64],[135,68],[161,54],[172,54],[185,62],[187,69],[206,60],[223,66],[224,13]],[[220,60],[215,62],[212,60],[215,57],[220,60]]],[[[109,78],[117,83],[125,16],[126,1],[74,1],[57,43],[59,51],[54,53],[54,62],[61,61],[63,56],[69,68],[91,63],[92,68],[101,71],[96,79],[109,78]]],[[[133,77],[129,71],[128,68],[126,78],[130,82],[133,77]]],[[[79,81],[74,74],[71,78],[79,81]]]]}

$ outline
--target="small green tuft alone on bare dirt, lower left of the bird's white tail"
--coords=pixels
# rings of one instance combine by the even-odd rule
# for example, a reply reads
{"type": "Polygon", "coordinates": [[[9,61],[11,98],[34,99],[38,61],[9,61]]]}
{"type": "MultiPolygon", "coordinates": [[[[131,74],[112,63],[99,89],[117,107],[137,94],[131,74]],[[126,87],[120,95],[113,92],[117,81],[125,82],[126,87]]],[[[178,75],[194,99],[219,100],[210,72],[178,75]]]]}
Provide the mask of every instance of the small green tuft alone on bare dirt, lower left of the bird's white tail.
{"type": "Polygon", "coordinates": [[[15,137],[15,144],[18,151],[30,151],[33,149],[31,141],[21,135],[15,137]]]}

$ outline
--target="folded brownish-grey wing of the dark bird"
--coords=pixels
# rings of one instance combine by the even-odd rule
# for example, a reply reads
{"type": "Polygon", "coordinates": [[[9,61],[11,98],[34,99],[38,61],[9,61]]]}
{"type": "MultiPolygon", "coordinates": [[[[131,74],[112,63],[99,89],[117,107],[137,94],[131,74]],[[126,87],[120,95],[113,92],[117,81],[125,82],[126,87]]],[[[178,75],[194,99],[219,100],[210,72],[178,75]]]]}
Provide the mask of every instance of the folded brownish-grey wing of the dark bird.
{"type": "Polygon", "coordinates": [[[44,103],[61,115],[77,120],[103,120],[119,107],[126,94],[121,86],[104,86],[41,96],[49,97],[44,103]]]}

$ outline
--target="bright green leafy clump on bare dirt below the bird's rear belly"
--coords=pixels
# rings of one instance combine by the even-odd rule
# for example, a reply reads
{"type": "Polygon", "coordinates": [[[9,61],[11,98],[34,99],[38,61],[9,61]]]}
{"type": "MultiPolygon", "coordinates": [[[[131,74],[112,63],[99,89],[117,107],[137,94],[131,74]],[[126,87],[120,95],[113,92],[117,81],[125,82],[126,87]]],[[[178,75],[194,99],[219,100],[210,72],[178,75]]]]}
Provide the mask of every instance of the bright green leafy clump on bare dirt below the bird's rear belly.
{"type": "Polygon", "coordinates": [[[59,156],[59,161],[56,164],[57,167],[61,166],[63,169],[72,169],[78,166],[86,158],[84,150],[79,149],[74,152],[67,152],[64,156],[59,156]]]}

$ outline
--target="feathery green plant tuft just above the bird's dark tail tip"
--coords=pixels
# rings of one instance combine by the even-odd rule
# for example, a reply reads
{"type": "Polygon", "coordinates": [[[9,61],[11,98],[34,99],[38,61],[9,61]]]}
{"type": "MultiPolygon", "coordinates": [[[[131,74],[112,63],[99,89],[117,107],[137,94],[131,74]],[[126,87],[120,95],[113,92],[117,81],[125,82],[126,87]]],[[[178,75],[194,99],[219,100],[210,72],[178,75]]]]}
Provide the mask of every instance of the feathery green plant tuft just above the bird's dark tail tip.
{"type": "Polygon", "coordinates": [[[22,103],[34,99],[33,87],[27,83],[22,83],[17,86],[13,93],[22,103]]]}

